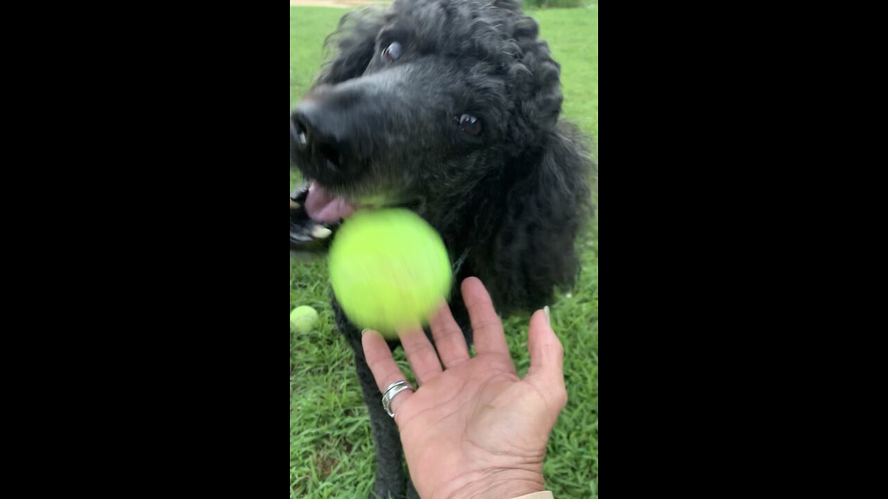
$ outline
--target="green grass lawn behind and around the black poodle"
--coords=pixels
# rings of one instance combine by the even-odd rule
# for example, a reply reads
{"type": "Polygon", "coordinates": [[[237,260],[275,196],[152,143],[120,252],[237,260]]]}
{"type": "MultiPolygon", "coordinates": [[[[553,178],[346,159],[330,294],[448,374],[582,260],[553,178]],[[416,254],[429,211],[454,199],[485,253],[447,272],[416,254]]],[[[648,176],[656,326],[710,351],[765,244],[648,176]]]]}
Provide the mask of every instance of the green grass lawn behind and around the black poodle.
{"type": "MultiPolygon", "coordinates": [[[[296,7],[289,11],[289,105],[312,83],[325,36],[345,11],[296,7]]],[[[564,115],[593,141],[598,158],[598,9],[530,12],[562,65],[564,115]]],[[[290,187],[295,181],[290,173],[290,187]]],[[[597,201],[597,188],[596,197],[597,201]]],[[[559,498],[598,497],[599,292],[598,223],[585,241],[583,272],[571,294],[552,305],[553,327],[565,349],[570,402],[551,435],[544,466],[547,487],[559,498]]],[[[290,261],[289,306],[311,305],[318,328],[290,335],[289,490],[291,498],[363,498],[373,480],[374,455],[367,409],[353,354],[337,332],[329,308],[326,260],[290,261]]],[[[527,370],[527,316],[505,323],[519,372],[527,370]]],[[[400,351],[399,351],[400,352],[400,351]]],[[[403,355],[401,367],[408,372],[403,355]]]]}

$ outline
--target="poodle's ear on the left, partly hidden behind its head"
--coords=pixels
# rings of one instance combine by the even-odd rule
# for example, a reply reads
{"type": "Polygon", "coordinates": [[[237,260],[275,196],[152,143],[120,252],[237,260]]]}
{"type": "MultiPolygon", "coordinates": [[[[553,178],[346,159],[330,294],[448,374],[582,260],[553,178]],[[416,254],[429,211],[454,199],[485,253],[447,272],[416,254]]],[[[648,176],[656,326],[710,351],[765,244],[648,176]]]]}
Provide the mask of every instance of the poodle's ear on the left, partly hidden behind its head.
{"type": "Polygon", "coordinates": [[[349,12],[339,20],[339,28],[327,37],[326,47],[334,46],[330,60],[315,84],[336,84],[364,74],[376,55],[377,34],[383,27],[383,13],[376,7],[349,12]]]}

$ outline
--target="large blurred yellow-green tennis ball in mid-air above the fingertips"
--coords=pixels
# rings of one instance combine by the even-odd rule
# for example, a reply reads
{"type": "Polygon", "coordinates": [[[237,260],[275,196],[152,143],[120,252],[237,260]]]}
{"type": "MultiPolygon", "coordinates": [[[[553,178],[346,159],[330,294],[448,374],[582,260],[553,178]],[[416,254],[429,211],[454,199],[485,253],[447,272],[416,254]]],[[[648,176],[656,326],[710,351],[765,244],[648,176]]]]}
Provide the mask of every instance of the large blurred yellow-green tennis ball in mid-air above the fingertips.
{"type": "Polygon", "coordinates": [[[329,253],[330,283],[348,319],[394,337],[425,325],[452,279],[447,248],[410,210],[366,210],[347,218],[329,253]]]}

